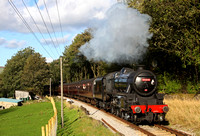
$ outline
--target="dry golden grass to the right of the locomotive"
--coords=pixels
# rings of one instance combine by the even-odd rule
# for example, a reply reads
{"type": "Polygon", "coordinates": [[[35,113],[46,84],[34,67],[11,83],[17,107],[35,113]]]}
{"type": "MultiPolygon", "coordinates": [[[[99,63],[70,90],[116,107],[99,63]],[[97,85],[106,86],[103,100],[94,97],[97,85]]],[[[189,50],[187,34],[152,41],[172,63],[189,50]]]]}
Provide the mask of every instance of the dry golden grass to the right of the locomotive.
{"type": "Polygon", "coordinates": [[[170,126],[200,136],[200,100],[181,95],[165,99],[170,110],[166,115],[170,126]]]}

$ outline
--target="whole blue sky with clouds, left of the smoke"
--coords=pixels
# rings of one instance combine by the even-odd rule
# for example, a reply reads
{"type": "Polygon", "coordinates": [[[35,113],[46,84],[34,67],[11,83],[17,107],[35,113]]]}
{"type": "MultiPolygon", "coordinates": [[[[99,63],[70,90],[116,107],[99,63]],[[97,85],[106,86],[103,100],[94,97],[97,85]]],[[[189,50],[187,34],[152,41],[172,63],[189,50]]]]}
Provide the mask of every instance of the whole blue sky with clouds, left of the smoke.
{"type": "Polygon", "coordinates": [[[106,11],[116,3],[117,0],[1,0],[0,66],[27,47],[46,57],[47,62],[58,59],[77,34],[104,19],[106,11]]]}

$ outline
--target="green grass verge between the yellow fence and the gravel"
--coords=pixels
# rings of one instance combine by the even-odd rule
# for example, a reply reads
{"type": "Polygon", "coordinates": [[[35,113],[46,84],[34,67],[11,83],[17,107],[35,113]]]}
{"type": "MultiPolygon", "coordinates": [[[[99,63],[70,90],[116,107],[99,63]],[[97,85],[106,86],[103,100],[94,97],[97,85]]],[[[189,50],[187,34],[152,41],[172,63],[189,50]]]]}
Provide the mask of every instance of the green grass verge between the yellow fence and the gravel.
{"type": "Polygon", "coordinates": [[[64,128],[61,128],[60,102],[56,102],[58,110],[58,136],[114,136],[101,122],[94,120],[79,108],[65,105],[64,128]]]}

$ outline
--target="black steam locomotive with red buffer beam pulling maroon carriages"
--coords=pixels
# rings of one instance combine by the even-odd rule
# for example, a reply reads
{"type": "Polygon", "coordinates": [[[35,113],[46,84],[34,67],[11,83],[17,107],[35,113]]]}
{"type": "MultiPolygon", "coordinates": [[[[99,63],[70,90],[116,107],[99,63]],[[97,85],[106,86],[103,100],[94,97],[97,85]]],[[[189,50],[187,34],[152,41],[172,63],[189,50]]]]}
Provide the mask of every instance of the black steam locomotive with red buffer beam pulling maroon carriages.
{"type": "MultiPolygon", "coordinates": [[[[139,67],[122,68],[103,77],[64,84],[63,94],[110,111],[133,123],[163,122],[169,108],[156,91],[154,73],[139,67]]],[[[60,87],[59,87],[60,93],[60,87]]]]}

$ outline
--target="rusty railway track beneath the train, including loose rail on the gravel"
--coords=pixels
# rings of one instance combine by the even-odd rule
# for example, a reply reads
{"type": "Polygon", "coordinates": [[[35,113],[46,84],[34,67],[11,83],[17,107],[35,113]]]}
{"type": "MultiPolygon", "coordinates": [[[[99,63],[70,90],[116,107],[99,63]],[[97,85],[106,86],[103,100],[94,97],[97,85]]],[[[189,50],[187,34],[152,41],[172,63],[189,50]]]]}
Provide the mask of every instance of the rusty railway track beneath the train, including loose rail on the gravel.
{"type": "MultiPolygon", "coordinates": [[[[73,100],[73,99],[72,99],[73,100]]],[[[79,100],[76,100],[76,101],[79,101],[79,100]]],[[[82,102],[82,101],[81,101],[82,102]]],[[[169,127],[166,127],[166,126],[163,126],[163,125],[153,125],[153,126],[149,126],[149,125],[135,125],[127,120],[124,120],[116,115],[113,115],[109,112],[106,112],[105,110],[102,110],[102,109],[99,109],[97,107],[94,107],[88,103],[85,103],[86,105],[88,105],[89,107],[92,107],[92,108],[95,108],[99,111],[102,111],[104,112],[105,114],[109,115],[109,116],[112,116],[113,118],[127,124],[129,127],[133,128],[134,130],[137,130],[138,131],[138,134],[136,135],[139,135],[139,136],[191,136],[190,134],[186,134],[184,132],[181,132],[181,131],[178,131],[178,130],[175,130],[175,129],[172,129],[172,128],[169,128],[169,127]]],[[[83,109],[83,107],[82,107],[83,109]]],[[[89,112],[87,111],[87,109],[84,109],[85,112],[88,114],[89,112]]],[[[110,125],[108,122],[106,122],[103,118],[101,119],[101,121],[106,125],[108,126],[110,129],[112,129],[114,132],[117,132],[118,134],[120,135],[123,135],[121,134],[118,130],[115,129],[114,126],[110,125]]],[[[134,135],[134,134],[133,134],[134,135]]]]}

